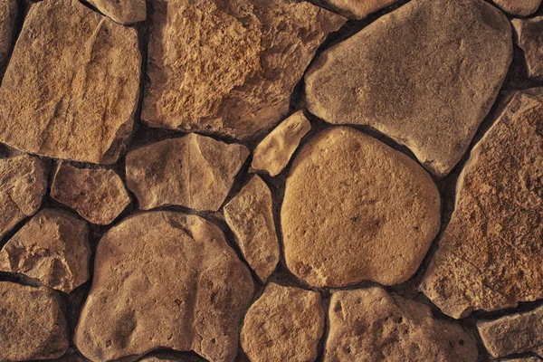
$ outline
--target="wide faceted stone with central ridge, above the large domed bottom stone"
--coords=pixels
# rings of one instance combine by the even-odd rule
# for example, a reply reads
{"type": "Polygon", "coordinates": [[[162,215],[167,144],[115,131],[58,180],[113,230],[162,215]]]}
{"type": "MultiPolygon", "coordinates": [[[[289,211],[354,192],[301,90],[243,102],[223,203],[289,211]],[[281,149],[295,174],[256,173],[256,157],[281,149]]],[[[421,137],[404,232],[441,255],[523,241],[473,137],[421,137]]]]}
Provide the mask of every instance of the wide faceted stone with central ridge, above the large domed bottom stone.
{"type": "Polygon", "coordinates": [[[195,133],[132,150],[127,186],[139,208],[181,205],[217,211],[224,203],[249,150],[195,133]]]}

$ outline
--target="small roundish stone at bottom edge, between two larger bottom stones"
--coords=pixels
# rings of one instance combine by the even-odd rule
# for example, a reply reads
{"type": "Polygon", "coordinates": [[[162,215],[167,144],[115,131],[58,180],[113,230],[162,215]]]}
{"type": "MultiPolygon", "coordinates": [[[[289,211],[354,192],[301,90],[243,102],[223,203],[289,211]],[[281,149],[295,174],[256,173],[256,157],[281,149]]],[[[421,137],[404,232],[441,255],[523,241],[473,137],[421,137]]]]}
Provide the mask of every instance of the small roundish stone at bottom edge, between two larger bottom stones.
{"type": "Polygon", "coordinates": [[[245,315],[242,348],[252,362],[310,362],[323,329],[318,292],[270,283],[245,315]]]}

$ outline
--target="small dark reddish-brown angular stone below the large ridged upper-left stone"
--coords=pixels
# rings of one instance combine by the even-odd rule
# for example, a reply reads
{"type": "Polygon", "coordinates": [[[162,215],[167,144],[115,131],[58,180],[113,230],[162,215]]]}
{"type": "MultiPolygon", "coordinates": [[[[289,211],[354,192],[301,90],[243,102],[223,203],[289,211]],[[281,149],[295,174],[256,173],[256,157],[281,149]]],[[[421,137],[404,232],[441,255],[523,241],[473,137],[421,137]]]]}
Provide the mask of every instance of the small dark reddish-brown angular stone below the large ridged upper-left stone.
{"type": "Polygon", "coordinates": [[[51,197],[92,224],[111,224],[130,204],[121,178],[111,169],[78,168],[62,162],[52,179],[51,197]]]}

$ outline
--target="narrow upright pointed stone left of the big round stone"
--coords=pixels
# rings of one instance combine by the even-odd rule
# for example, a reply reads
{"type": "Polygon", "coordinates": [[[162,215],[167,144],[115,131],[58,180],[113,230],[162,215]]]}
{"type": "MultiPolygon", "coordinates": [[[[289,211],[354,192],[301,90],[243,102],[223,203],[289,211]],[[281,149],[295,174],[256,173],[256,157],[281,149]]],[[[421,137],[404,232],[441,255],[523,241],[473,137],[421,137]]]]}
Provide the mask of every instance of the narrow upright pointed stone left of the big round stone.
{"type": "Polygon", "coordinates": [[[262,178],[251,181],[224,205],[224,219],[235,235],[243,257],[262,282],[279,262],[279,241],[275,233],[270,188],[262,178]]]}

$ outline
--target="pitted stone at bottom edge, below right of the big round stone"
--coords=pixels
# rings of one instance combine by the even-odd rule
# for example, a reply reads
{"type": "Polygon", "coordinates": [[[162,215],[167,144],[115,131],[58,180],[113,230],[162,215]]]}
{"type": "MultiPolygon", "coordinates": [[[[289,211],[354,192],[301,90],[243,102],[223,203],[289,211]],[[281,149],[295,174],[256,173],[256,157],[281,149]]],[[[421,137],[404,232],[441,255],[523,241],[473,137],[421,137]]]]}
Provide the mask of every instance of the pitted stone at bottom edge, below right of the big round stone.
{"type": "Polygon", "coordinates": [[[338,291],[329,307],[324,362],[475,362],[477,343],[455,321],[378,287],[338,291]]]}

